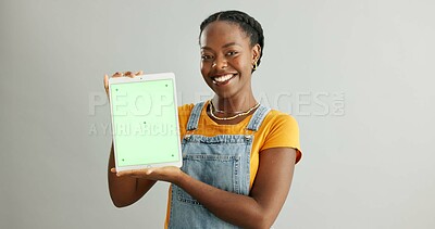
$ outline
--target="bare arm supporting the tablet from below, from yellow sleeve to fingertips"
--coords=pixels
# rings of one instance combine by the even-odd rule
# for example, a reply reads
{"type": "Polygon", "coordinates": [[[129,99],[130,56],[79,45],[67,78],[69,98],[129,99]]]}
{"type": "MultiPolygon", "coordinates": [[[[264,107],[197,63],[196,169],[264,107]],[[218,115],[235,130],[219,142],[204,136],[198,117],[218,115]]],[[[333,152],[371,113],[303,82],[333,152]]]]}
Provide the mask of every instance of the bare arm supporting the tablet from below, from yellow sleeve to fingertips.
{"type": "Polygon", "coordinates": [[[165,180],[184,189],[216,217],[243,228],[270,228],[287,198],[296,151],[273,148],[260,153],[260,166],[249,196],[235,194],[196,180],[176,167],[121,171],[165,180]]]}

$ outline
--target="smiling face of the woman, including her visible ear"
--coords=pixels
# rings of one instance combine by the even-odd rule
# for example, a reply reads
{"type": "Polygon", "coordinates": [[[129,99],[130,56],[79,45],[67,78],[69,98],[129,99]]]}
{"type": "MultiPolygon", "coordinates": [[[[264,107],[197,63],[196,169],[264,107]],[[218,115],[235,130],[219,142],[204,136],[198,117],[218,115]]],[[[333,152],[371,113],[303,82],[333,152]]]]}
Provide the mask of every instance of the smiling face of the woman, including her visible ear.
{"type": "Polygon", "coordinates": [[[251,93],[252,65],[259,58],[259,44],[235,23],[210,23],[200,37],[201,74],[207,85],[220,97],[251,93]]]}

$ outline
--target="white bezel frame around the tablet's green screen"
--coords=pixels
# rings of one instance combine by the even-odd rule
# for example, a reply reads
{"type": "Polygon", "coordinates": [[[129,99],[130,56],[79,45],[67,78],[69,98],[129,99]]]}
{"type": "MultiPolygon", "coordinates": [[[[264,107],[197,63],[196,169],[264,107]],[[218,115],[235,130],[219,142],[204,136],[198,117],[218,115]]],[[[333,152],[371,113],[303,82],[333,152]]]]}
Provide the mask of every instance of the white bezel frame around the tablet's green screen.
{"type": "Polygon", "coordinates": [[[177,135],[177,149],[178,149],[178,161],[175,162],[166,162],[166,163],[152,163],[152,164],[140,164],[140,165],[129,165],[129,166],[120,166],[117,162],[116,154],[116,140],[115,140],[115,130],[114,130],[114,118],[113,118],[113,103],[110,102],[110,113],[111,113],[111,130],[112,130],[112,142],[113,142],[113,154],[115,160],[115,168],[116,171],[122,170],[133,170],[133,169],[142,169],[142,168],[152,168],[152,167],[164,167],[164,166],[176,166],[182,167],[183,165],[183,155],[182,155],[182,142],[181,142],[181,133],[179,133],[179,122],[178,122],[178,106],[177,106],[177,93],[176,93],[176,85],[175,85],[175,75],[174,73],[159,73],[159,74],[146,74],[139,75],[136,77],[114,77],[109,79],[109,98],[112,100],[112,85],[114,84],[130,84],[130,82],[141,82],[141,81],[153,81],[153,80],[162,80],[162,79],[171,79],[173,82],[173,101],[175,106],[175,124],[176,124],[176,135],[177,135]]]}

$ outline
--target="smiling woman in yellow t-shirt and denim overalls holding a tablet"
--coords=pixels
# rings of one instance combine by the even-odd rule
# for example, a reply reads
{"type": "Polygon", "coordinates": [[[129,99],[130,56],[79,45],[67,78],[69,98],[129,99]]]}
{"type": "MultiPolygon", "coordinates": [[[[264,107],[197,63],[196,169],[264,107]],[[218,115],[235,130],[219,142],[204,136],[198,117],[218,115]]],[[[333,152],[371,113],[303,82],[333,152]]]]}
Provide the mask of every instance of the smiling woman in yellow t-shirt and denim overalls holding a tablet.
{"type": "MultiPolygon", "coordinates": [[[[112,145],[112,201],[119,207],[133,204],[162,180],[172,183],[167,228],[270,228],[301,157],[297,123],[253,97],[251,74],[264,46],[254,18],[239,11],[217,12],[200,30],[201,74],[215,94],[178,107],[183,167],[116,173],[112,145]]],[[[113,77],[123,75],[141,72],[113,77]]]]}

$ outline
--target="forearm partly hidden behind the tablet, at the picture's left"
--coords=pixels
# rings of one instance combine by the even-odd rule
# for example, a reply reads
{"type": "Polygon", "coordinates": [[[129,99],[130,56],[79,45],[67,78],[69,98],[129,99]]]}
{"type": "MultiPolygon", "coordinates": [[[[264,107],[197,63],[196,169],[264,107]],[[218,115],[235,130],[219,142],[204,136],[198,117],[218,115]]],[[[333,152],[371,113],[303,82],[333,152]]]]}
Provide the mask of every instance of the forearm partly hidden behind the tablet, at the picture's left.
{"type": "Polygon", "coordinates": [[[112,202],[117,207],[128,206],[138,201],[156,181],[134,177],[117,177],[111,168],[115,167],[113,143],[109,156],[108,181],[112,202]]]}

